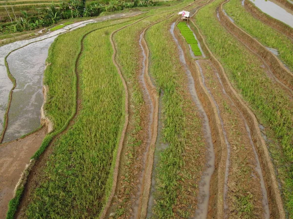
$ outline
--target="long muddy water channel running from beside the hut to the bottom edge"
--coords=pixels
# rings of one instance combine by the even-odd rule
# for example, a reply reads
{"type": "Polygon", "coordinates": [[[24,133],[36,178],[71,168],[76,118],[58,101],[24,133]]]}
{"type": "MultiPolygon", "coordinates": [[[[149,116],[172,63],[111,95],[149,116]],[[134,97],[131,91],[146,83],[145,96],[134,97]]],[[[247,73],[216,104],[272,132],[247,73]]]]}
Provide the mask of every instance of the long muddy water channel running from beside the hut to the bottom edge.
{"type": "Polygon", "coordinates": [[[211,175],[214,172],[215,169],[215,153],[214,153],[214,148],[212,144],[212,138],[211,138],[211,131],[209,128],[209,119],[207,116],[207,113],[204,110],[204,107],[202,103],[200,102],[198,95],[195,90],[195,83],[193,80],[193,77],[191,75],[191,72],[188,68],[188,65],[186,64],[186,60],[184,57],[184,53],[182,48],[180,47],[178,40],[176,39],[174,35],[174,26],[175,23],[171,25],[171,35],[174,39],[174,41],[177,44],[178,50],[179,50],[179,56],[180,56],[180,61],[185,67],[186,74],[188,76],[188,90],[191,94],[192,100],[195,103],[198,112],[201,115],[202,121],[203,121],[203,131],[204,131],[204,137],[207,143],[207,164],[205,171],[201,177],[200,183],[199,183],[199,194],[198,194],[198,203],[197,203],[197,209],[195,211],[194,218],[196,219],[204,219],[207,218],[208,215],[208,207],[209,207],[209,183],[211,179],[211,175]]]}

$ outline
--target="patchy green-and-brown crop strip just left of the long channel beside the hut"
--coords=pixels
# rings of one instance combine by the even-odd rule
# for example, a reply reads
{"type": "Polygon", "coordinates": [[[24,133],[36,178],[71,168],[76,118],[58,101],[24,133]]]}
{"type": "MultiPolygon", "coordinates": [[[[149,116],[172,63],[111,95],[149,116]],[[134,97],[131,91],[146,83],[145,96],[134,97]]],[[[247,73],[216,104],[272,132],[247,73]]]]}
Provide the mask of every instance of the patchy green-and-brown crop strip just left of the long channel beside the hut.
{"type": "Polygon", "coordinates": [[[195,165],[202,141],[201,120],[187,98],[185,70],[179,61],[177,46],[169,33],[174,18],[158,23],[146,32],[150,51],[149,72],[156,86],[164,91],[162,98],[163,142],[168,147],[160,152],[156,167],[153,218],[188,218],[195,210],[188,192],[196,197],[198,174],[202,164],[195,165]],[[189,156],[189,158],[188,158],[189,156]],[[192,157],[192,159],[190,158],[192,157]],[[176,202],[180,198],[180,204],[176,202]]]}

